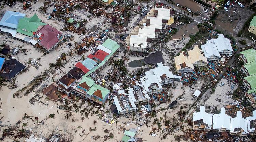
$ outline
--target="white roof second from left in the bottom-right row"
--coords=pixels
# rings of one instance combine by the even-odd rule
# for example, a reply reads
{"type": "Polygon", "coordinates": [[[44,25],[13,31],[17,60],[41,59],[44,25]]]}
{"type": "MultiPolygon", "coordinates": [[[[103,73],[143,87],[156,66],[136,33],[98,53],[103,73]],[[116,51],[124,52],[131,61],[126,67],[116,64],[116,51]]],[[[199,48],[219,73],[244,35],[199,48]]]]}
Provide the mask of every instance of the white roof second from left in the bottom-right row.
{"type": "Polygon", "coordinates": [[[231,130],[231,116],[226,114],[224,107],[221,108],[221,113],[213,114],[213,129],[226,128],[231,130]]]}

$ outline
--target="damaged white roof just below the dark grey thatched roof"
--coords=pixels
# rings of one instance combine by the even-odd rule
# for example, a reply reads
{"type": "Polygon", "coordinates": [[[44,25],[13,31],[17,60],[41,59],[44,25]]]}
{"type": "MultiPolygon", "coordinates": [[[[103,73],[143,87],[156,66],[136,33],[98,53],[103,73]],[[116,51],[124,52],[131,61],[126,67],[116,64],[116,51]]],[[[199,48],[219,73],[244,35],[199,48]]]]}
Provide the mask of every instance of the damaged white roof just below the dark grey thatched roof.
{"type": "Polygon", "coordinates": [[[165,74],[168,78],[174,79],[172,72],[169,71],[170,67],[163,66],[162,63],[157,63],[157,65],[157,68],[151,69],[150,71],[146,71],[145,76],[140,78],[140,81],[142,82],[146,91],[149,91],[148,87],[150,86],[151,83],[156,83],[159,88],[162,88],[160,82],[162,82],[161,76],[163,74],[165,74]]]}

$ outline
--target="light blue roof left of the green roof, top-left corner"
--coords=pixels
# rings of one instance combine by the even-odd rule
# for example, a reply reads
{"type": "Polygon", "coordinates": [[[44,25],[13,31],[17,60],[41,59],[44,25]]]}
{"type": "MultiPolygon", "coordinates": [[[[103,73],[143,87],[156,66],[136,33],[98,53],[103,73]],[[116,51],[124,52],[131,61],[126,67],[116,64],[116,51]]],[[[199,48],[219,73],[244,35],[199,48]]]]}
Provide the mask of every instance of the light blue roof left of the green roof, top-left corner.
{"type": "Polygon", "coordinates": [[[19,19],[23,18],[25,15],[26,14],[24,13],[6,11],[3,18],[0,21],[0,25],[17,29],[19,19]]]}

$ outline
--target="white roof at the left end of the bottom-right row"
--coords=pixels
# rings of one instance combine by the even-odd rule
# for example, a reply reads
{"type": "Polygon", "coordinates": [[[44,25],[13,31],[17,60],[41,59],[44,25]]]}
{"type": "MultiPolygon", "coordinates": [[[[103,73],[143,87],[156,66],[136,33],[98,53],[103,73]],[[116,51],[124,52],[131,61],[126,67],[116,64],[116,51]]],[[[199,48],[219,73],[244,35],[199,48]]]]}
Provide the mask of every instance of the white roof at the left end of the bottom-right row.
{"type": "Polygon", "coordinates": [[[212,114],[205,112],[205,107],[200,106],[200,112],[193,113],[193,121],[203,119],[203,123],[207,124],[208,127],[212,126],[212,114]]]}

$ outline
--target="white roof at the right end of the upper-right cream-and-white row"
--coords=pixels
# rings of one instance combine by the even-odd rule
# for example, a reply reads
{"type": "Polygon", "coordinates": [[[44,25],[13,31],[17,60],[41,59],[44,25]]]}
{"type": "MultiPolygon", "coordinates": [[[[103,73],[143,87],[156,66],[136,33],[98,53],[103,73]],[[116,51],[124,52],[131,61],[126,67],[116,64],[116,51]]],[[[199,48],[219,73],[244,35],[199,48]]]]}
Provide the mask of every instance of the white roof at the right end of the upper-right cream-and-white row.
{"type": "Polygon", "coordinates": [[[206,42],[212,42],[217,46],[217,49],[219,52],[227,49],[229,51],[233,51],[233,48],[231,46],[230,40],[228,38],[225,38],[223,34],[219,34],[219,38],[207,40],[206,42]]]}

